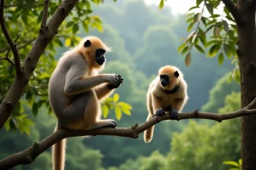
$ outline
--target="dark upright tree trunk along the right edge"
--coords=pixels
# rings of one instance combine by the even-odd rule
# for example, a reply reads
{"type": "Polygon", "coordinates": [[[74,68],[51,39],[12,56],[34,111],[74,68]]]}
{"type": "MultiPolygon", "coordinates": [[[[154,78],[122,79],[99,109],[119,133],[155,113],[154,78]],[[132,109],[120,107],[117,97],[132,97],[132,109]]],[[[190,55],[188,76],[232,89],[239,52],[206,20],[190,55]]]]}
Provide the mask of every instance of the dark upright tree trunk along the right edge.
{"type": "MultiPolygon", "coordinates": [[[[255,5],[251,0],[238,0],[237,6],[247,18],[238,26],[238,59],[241,73],[241,107],[256,97],[256,32],[255,5]]],[[[256,169],[256,116],[241,117],[242,169],[256,169]]]]}

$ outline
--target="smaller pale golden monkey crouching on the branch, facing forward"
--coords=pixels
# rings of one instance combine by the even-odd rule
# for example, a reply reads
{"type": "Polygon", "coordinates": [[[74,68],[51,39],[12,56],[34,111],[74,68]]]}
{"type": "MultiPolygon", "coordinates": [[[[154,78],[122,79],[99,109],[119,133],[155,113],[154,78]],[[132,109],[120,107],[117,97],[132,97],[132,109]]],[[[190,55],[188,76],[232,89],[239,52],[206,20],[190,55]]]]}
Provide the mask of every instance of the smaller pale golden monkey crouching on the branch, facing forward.
{"type": "MultiPolygon", "coordinates": [[[[177,120],[177,113],[189,99],[187,83],[183,73],[176,66],[166,65],[160,68],[158,76],[150,83],[147,94],[148,118],[163,116],[168,112],[171,120],[177,120]]],[[[144,132],[144,141],[149,143],[153,138],[154,126],[144,132]]]]}

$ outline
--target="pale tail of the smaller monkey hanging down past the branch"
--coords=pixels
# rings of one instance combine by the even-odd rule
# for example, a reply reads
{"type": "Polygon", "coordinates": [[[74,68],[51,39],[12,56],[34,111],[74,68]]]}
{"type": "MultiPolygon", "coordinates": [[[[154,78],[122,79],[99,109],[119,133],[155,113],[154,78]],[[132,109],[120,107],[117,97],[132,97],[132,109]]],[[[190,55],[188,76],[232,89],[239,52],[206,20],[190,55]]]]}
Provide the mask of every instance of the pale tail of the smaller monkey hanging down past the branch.
{"type": "MultiPolygon", "coordinates": [[[[153,110],[153,106],[152,106],[152,95],[148,94],[148,118],[147,118],[147,121],[149,119],[151,119],[152,116],[154,116],[154,110],[153,110]]],[[[151,142],[151,140],[153,138],[153,133],[154,133],[154,126],[149,127],[147,130],[145,130],[144,141],[146,143],[151,142]]]]}

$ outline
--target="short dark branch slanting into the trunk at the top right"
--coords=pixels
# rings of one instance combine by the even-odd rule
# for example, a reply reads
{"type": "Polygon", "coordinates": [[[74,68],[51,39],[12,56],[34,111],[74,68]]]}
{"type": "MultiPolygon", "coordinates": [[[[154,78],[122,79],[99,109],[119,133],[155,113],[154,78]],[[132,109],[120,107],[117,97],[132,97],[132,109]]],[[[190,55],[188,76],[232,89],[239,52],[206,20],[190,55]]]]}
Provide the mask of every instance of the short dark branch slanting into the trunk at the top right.
{"type": "Polygon", "coordinates": [[[226,8],[230,10],[230,13],[233,15],[236,20],[236,24],[239,26],[245,26],[248,22],[244,14],[241,13],[241,9],[237,8],[236,5],[231,0],[222,0],[226,8]]]}

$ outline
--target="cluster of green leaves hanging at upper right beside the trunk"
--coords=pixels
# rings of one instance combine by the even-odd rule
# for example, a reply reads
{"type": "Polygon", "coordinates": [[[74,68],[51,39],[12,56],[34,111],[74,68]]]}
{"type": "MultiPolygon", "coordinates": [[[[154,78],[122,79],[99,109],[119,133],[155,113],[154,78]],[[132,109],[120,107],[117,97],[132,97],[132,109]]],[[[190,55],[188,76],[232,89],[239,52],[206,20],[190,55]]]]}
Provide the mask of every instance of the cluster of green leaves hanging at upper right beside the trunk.
{"type": "Polygon", "coordinates": [[[202,54],[207,54],[208,58],[218,56],[219,65],[222,65],[224,57],[227,57],[233,59],[232,63],[236,62],[232,77],[239,80],[236,55],[236,22],[230,11],[223,6],[222,1],[196,0],[195,6],[189,8],[187,18],[189,36],[183,40],[177,49],[181,54],[186,54],[186,65],[190,65],[192,48],[202,54]],[[218,14],[220,10],[222,14],[218,14]],[[206,48],[208,49],[207,52],[206,48]]]}

